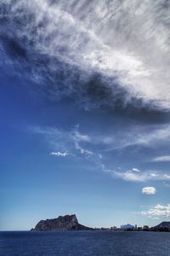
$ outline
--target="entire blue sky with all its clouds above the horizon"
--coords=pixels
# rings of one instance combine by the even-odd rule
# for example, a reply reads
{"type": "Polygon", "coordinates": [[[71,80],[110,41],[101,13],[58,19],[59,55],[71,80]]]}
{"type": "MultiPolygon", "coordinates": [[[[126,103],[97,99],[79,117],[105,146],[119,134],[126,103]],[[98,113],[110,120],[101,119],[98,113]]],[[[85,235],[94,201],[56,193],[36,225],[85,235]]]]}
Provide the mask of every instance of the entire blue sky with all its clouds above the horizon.
{"type": "Polygon", "coordinates": [[[170,219],[170,2],[0,0],[0,230],[170,219]]]}

